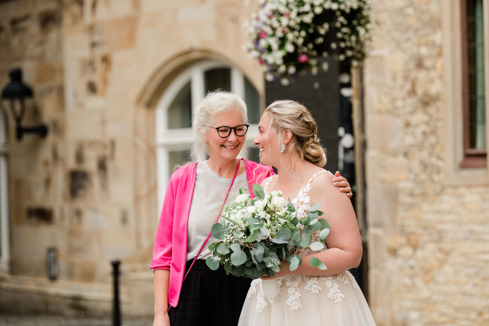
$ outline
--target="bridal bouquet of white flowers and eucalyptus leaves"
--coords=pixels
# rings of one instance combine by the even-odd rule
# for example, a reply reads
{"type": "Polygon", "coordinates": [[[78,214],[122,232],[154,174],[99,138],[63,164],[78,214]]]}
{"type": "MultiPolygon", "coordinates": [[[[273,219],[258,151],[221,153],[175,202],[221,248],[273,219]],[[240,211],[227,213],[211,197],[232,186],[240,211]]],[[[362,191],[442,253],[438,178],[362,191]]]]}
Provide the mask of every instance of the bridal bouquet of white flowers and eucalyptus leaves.
{"type": "MultiPolygon", "coordinates": [[[[240,190],[233,203],[222,210],[222,223],[212,226],[212,236],[219,239],[209,245],[211,257],[206,264],[212,270],[224,265],[226,273],[234,276],[257,279],[265,274],[275,275],[281,261],[287,261],[290,270],[301,263],[300,252],[307,249],[321,250],[322,241],[329,234],[329,224],[318,218],[323,212],[316,204],[308,216],[297,218],[295,207],[286,203],[282,192],[273,191],[265,195],[260,185],[253,185],[255,198],[251,199],[240,190]],[[320,241],[311,243],[314,231],[320,231],[320,241]]],[[[326,269],[317,258],[311,258],[313,267],[326,269]]]]}

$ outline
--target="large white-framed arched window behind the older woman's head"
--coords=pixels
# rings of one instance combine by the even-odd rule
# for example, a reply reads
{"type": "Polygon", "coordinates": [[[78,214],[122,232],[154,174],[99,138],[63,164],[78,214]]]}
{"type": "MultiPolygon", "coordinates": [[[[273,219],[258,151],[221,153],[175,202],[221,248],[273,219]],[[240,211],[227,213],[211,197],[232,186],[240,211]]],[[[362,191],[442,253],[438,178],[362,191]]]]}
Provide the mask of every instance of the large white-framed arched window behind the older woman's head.
{"type": "MultiPolygon", "coordinates": [[[[156,162],[160,201],[173,168],[189,157],[194,141],[190,129],[193,109],[205,93],[218,88],[232,91],[246,102],[250,123],[246,143],[252,146],[260,120],[260,96],[256,88],[238,68],[230,65],[202,61],[189,67],[166,89],[156,106],[156,162]]],[[[257,149],[252,150],[252,158],[257,156],[256,152],[257,149]]],[[[159,207],[161,205],[162,202],[159,207]]]]}

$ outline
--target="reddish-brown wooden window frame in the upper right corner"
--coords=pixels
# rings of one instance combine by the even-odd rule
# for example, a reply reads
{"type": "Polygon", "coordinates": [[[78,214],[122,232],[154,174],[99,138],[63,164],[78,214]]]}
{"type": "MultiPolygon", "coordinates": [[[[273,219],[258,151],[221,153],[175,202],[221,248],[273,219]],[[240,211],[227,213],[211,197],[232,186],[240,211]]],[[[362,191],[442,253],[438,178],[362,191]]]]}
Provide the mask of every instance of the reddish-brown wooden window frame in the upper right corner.
{"type": "MultiPolygon", "coordinates": [[[[483,5],[486,5],[484,1],[483,5]]],[[[486,8],[484,9],[486,10],[486,8]]],[[[461,168],[481,168],[487,167],[487,148],[486,149],[473,149],[470,148],[469,137],[469,94],[468,94],[468,58],[467,58],[467,0],[460,0],[460,28],[461,28],[461,50],[462,50],[462,115],[463,115],[463,133],[464,133],[464,157],[461,168]]],[[[484,17],[486,18],[486,17],[484,17]]],[[[488,23],[484,21],[484,23],[488,23]]],[[[484,28],[484,32],[486,28],[484,28]]],[[[484,39],[487,39],[487,35],[484,35],[484,39]]],[[[485,44],[488,45],[488,44],[485,44]]],[[[485,48],[487,51],[487,47],[485,48]]],[[[487,74],[487,66],[484,67],[485,75],[487,74]]],[[[485,77],[487,80],[487,77],[485,77]]],[[[487,88],[487,87],[486,87],[487,88]]],[[[487,94],[486,94],[487,96],[487,94]]],[[[486,97],[487,108],[487,97],[486,97]]],[[[486,109],[487,111],[487,109],[486,109]]],[[[486,115],[486,125],[487,125],[486,115]]],[[[488,128],[486,128],[488,132],[488,128]]],[[[487,143],[486,143],[487,147],[487,143]]]]}

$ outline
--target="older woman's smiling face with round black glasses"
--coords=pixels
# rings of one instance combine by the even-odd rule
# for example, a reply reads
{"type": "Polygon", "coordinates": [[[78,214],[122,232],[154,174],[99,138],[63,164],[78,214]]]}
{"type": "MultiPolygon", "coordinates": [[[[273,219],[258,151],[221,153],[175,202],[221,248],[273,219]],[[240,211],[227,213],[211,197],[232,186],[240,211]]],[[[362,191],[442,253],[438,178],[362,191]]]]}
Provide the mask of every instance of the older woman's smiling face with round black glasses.
{"type": "Polygon", "coordinates": [[[208,128],[206,141],[209,144],[209,159],[234,160],[243,147],[244,135],[248,131],[248,125],[243,123],[241,113],[220,113],[208,128]]]}

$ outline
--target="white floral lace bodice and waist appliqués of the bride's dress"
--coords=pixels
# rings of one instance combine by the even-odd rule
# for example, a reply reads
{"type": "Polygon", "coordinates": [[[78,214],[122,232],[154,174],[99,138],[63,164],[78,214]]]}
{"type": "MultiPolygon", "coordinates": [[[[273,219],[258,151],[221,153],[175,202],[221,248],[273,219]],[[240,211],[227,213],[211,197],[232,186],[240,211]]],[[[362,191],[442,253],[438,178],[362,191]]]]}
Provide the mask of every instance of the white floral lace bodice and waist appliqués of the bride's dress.
{"type": "MultiPolygon", "coordinates": [[[[329,174],[332,174],[329,171],[326,170],[321,170],[318,173],[314,174],[307,185],[303,187],[301,190],[299,190],[299,193],[295,198],[292,200],[292,204],[295,206],[296,212],[297,212],[297,218],[301,218],[304,216],[307,216],[307,213],[309,212],[309,209],[311,209],[312,204],[311,204],[311,198],[309,197],[308,193],[311,190],[311,182],[315,178],[317,174],[323,173],[323,172],[328,172],[329,174]]],[[[267,187],[270,185],[270,182],[276,177],[276,175],[273,175],[265,181],[264,184],[264,190],[267,192],[267,187]]],[[[315,231],[312,234],[311,237],[311,242],[318,241],[319,240],[319,230],[315,231]]],[[[319,251],[324,251],[328,249],[328,246],[325,243],[325,249],[319,250],[319,251]]],[[[313,253],[312,250],[308,249],[305,252],[300,253],[299,255],[301,256],[306,256],[313,253]]],[[[348,284],[350,282],[353,283],[353,286],[357,289],[360,290],[360,287],[355,281],[355,278],[349,271],[341,272],[336,275],[331,275],[331,276],[305,276],[305,275],[286,275],[282,276],[276,279],[277,284],[281,287],[285,285],[288,287],[288,294],[289,298],[286,301],[286,304],[290,305],[291,310],[297,310],[298,308],[302,307],[300,297],[301,295],[301,288],[303,288],[306,291],[309,291],[311,294],[317,294],[319,291],[322,290],[321,285],[324,284],[329,290],[328,293],[328,298],[331,298],[335,303],[341,302],[341,299],[344,298],[345,296],[341,293],[339,290],[339,283],[342,282],[344,284],[348,284]],[[324,281],[321,282],[321,284],[318,281],[324,281]],[[301,285],[305,283],[305,285],[301,285]]],[[[250,288],[248,290],[248,297],[251,297],[252,295],[256,294],[257,295],[257,306],[255,310],[257,312],[262,312],[263,307],[268,305],[267,300],[265,299],[265,293],[263,292],[263,286],[262,286],[262,279],[256,279],[251,282],[250,288]]],[[[282,295],[282,294],[280,294],[282,295]]]]}

